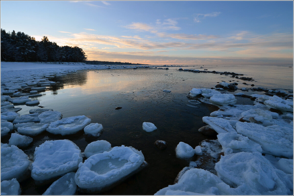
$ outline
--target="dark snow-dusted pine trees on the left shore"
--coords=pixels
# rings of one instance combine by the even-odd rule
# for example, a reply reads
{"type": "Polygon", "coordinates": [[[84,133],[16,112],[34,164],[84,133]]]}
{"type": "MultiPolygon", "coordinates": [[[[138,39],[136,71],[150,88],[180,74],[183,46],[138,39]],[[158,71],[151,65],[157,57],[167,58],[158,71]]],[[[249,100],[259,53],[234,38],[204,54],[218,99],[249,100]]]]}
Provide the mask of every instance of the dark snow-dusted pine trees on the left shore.
{"type": "Polygon", "coordinates": [[[1,61],[85,62],[86,54],[77,46],[58,46],[43,36],[36,41],[24,32],[1,29],[1,61]]]}

